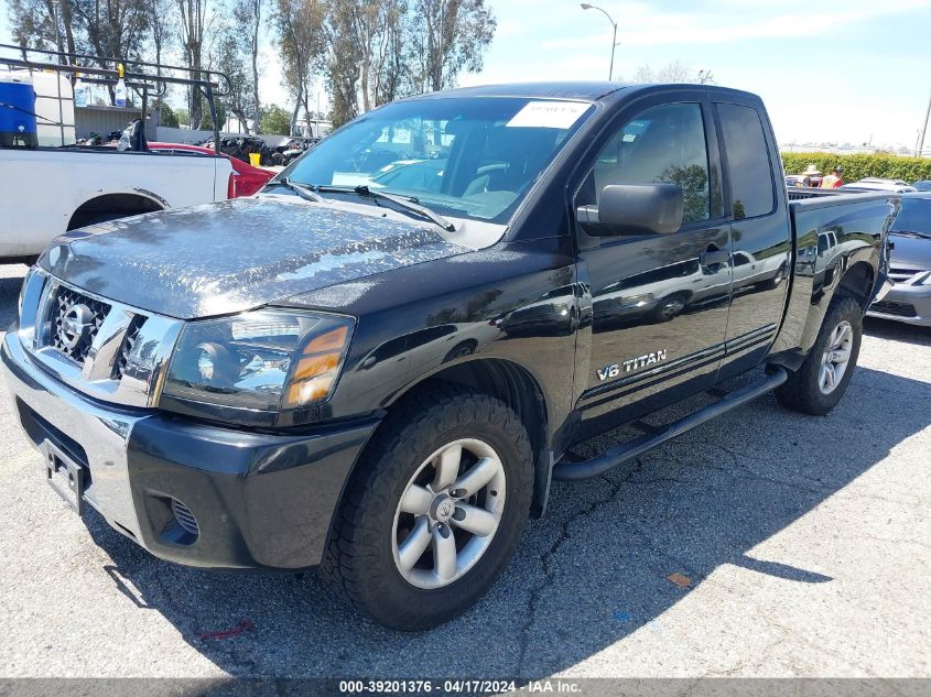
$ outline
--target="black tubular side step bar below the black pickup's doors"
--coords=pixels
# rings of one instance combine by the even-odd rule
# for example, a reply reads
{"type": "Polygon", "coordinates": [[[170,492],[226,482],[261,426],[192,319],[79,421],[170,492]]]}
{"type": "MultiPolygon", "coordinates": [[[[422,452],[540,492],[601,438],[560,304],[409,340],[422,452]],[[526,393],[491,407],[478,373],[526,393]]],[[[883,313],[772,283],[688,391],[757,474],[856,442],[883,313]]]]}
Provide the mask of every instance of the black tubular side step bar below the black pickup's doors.
{"type": "MultiPolygon", "coordinates": [[[[714,404],[708,404],[696,412],[692,412],[688,416],[683,416],[679,421],[674,421],[667,426],[654,428],[643,425],[641,428],[648,431],[646,435],[614,448],[609,448],[591,460],[560,460],[556,462],[555,467],[553,467],[553,479],[557,481],[578,481],[581,479],[597,477],[618,465],[624,465],[625,462],[637,459],[648,450],[652,450],[657,446],[681,436],[683,433],[691,431],[695,426],[701,426],[705,422],[729,412],[732,409],[746,404],[767,392],[772,392],[788,379],[789,374],[784,369],[779,368],[778,366],[770,367],[766,380],[762,382],[749,385],[743,390],[727,392],[724,396],[722,396],[721,401],[715,402],[714,404]]],[[[710,390],[710,392],[717,396],[722,395],[719,390],[710,390]]]]}

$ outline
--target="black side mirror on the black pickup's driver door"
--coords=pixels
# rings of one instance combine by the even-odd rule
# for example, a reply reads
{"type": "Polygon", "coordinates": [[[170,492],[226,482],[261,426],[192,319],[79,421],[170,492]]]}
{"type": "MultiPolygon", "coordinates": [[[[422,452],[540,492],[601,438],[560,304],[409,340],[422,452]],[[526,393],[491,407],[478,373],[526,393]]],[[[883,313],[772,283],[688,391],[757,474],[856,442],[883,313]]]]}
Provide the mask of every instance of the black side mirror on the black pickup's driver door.
{"type": "Polygon", "coordinates": [[[676,184],[611,184],[597,206],[580,206],[576,217],[592,237],[672,235],[682,227],[684,210],[676,184]]]}

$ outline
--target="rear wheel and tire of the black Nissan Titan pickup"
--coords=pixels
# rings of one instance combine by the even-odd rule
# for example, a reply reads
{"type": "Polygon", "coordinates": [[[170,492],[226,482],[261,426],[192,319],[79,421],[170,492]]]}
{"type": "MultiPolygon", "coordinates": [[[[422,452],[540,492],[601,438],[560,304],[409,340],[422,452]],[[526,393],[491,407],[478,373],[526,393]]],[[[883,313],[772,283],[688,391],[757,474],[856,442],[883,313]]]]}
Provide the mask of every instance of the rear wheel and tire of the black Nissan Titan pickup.
{"type": "MultiPolygon", "coordinates": [[[[776,399],[783,406],[797,412],[816,416],[830,412],[847,391],[859,356],[862,338],[863,308],[851,297],[834,298],[805,362],[799,370],[789,373],[789,380],[776,390],[776,399]],[[840,348],[832,348],[832,342],[837,344],[838,331],[844,327],[849,331],[848,342],[840,348]],[[846,363],[842,372],[838,372],[836,367],[831,369],[835,379],[830,381],[832,384],[825,389],[822,377],[824,359],[829,358],[829,353],[837,356],[838,350],[846,352],[846,363]]],[[[833,361],[826,362],[835,366],[833,361]]]]}

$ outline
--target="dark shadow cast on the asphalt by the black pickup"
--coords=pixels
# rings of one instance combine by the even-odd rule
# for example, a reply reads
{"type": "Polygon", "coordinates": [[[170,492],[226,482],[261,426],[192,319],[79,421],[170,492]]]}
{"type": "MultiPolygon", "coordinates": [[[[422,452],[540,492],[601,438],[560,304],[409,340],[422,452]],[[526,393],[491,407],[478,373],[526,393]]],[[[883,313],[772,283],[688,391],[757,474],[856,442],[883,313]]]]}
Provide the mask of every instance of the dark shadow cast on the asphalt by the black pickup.
{"type": "Polygon", "coordinates": [[[430,632],[361,619],[315,574],[188,569],[153,559],[98,516],[88,526],[128,601],[162,613],[232,675],[540,677],[660,629],[663,613],[724,565],[748,569],[751,584],[759,575],[830,585],[851,573],[754,549],[925,428],[927,413],[908,405],[928,389],[859,369],[829,417],[788,413],[765,396],[627,469],[554,484],[550,511],[529,525],[488,597],[430,632]]]}

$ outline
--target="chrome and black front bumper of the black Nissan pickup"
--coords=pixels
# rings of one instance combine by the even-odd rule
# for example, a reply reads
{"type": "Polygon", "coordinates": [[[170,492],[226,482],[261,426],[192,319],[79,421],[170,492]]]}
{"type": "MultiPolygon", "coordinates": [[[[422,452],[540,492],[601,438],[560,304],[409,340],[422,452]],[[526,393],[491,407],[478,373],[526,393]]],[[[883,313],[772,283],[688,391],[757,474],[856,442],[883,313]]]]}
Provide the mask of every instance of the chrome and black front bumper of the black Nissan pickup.
{"type": "Polygon", "coordinates": [[[90,400],[39,368],[15,330],[1,352],[23,431],[46,455],[77,465],[78,500],[155,556],[192,566],[316,566],[344,484],[377,426],[234,431],[90,400]]]}

